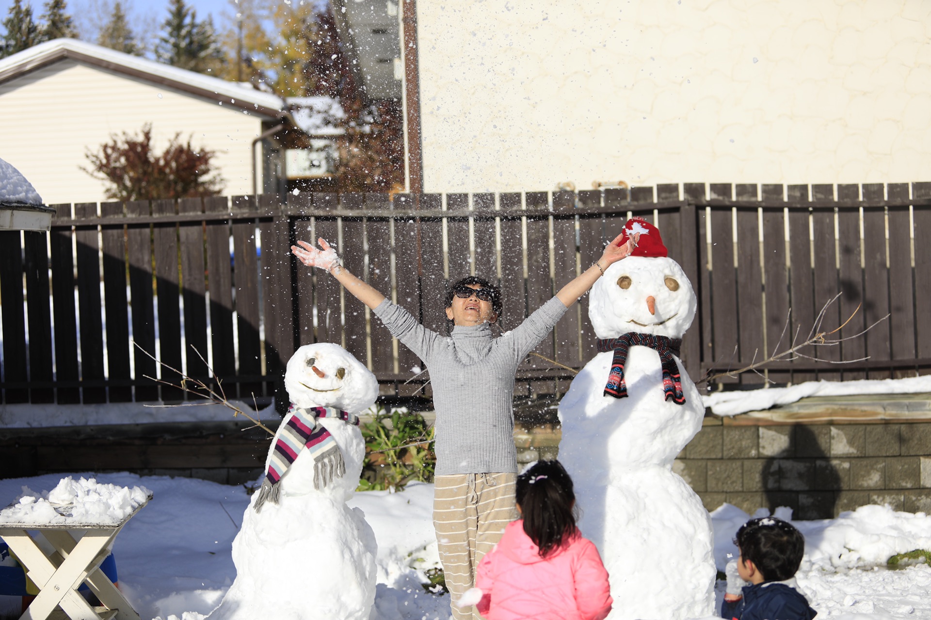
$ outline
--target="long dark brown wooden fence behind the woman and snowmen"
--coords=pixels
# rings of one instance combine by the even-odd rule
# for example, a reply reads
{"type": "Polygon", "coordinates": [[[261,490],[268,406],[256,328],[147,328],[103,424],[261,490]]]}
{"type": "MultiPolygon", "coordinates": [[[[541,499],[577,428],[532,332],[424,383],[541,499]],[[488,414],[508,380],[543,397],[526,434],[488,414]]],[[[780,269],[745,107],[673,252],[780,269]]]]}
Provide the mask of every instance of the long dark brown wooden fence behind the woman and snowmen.
{"type": "MultiPolygon", "coordinates": [[[[349,270],[444,332],[446,286],[471,273],[504,291],[511,329],[599,255],[630,215],[659,228],[699,298],[682,360],[735,368],[824,325],[865,336],[776,362],[776,383],[931,369],[931,183],[659,185],[627,190],[300,194],[58,205],[52,231],[0,231],[3,402],[178,401],[142,350],[230,396],[281,389],[296,347],[341,343],[385,393],[412,394],[423,364],[330,276],[299,266],[296,239],[335,242],[349,270]],[[132,342],[142,350],[134,348],[132,342]],[[862,357],[843,365],[830,362],[862,357]],[[156,375],[156,373],[158,375],[156,375]]],[[[595,354],[587,303],[535,352],[578,368],[595,354]]],[[[519,392],[559,393],[573,373],[531,356],[519,392]]],[[[752,373],[722,383],[758,385],[752,373]]],[[[189,398],[189,397],[188,397],[189,398]]]]}

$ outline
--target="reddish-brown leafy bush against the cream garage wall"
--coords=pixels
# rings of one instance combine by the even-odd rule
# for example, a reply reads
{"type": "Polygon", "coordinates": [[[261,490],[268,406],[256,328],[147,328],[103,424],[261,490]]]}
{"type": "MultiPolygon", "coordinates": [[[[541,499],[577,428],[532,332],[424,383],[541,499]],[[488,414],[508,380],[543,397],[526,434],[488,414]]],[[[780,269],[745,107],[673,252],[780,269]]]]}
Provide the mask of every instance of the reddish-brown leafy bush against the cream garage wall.
{"type": "Polygon", "coordinates": [[[211,164],[216,152],[195,151],[191,140],[182,143],[181,132],[165,152],[152,148],[152,125],[142,126],[142,137],[123,132],[86,153],[90,167],[81,168],[107,184],[107,198],[120,201],[215,196],[223,191],[223,178],[211,164]]]}

